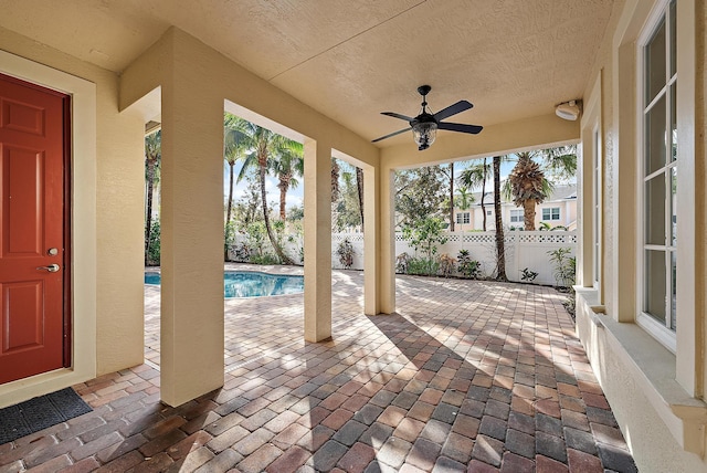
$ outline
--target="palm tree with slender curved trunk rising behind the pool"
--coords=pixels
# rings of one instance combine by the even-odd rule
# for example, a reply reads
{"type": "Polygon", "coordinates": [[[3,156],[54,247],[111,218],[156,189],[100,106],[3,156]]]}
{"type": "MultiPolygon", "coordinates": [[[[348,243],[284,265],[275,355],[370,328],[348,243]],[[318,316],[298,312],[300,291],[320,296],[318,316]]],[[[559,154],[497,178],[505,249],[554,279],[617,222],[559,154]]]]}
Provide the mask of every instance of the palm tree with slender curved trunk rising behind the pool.
{"type": "Polygon", "coordinates": [[[238,180],[241,181],[247,174],[249,169],[256,169],[261,185],[261,201],[263,203],[263,220],[265,221],[265,230],[277,257],[283,264],[293,264],[289,256],[285,254],[281,248],[273,227],[270,221],[270,210],[267,208],[267,192],[265,191],[265,177],[274,165],[275,159],[295,147],[296,141],[277,135],[270,129],[257,126],[251,122],[244,120],[243,135],[246,137],[244,146],[249,153],[243,158],[243,167],[239,174],[238,180]]]}

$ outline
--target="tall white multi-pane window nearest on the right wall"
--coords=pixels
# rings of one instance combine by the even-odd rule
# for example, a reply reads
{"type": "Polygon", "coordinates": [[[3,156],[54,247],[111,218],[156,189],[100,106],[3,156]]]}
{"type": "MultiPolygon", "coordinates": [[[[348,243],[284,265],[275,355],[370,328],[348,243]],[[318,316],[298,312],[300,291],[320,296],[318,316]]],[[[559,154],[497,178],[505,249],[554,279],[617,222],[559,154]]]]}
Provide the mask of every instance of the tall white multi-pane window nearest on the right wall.
{"type": "Polygon", "coordinates": [[[642,229],[639,324],[675,349],[677,254],[676,4],[666,3],[642,44],[642,229]],[[671,343],[672,340],[672,343],[671,343]]]}

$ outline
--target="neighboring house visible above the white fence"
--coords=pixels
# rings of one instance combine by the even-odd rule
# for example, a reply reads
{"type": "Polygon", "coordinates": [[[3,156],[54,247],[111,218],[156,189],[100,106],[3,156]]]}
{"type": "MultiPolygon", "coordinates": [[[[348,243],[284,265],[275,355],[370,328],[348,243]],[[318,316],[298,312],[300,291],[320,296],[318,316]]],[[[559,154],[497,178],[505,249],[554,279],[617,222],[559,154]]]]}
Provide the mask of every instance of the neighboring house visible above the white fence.
{"type": "MultiPolygon", "coordinates": [[[[481,206],[482,195],[475,192],[474,203],[468,209],[455,209],[456,231],[478,231],[484,229],[484,211],[486,211],[486,230],[496,228],[494,218],[494,195],[486,192],[484,209],[481,206]]],[[[503,199],[500,203],[504,225],[510,229],[525,228],[523,208],[516,207],[513,201],[503,199]]],[[[536,207],[535,227],[540,230],[540,223],[552,227],[567,227],[568,230],[577,229],[577,185],[556,186],[542,203],[536,207]]]]}

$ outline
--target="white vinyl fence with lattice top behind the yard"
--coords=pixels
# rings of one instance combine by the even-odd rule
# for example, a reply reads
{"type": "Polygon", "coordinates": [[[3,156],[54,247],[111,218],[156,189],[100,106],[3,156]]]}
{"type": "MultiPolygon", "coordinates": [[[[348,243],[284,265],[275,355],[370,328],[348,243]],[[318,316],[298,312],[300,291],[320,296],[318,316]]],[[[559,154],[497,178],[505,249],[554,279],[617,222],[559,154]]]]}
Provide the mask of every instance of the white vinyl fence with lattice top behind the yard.
{"type": "MultiPolygon", "coordinates": [[[[443,232],[447,239],[446,243],[437,246],[436,256],[446,253],[451,257],[457,259],[460,250],[467,250],[472,260],[481,263],[483,277],[492,276],[496,267],[496,234],[495,232],[443,232]]],[[[339,257],[336,253],[339,243],[348,239],[354,246],[352,270],[363,269],[363,234],[362,233],[334,233],[331,235],[331,265],[341,269],[339,257]]],[[[303,245],[300,238],[285,239],[285,252],[296,262],[300,263],[299,249],[303,245]]],[[[236,236],[236,244],[229,252],[231,259],[238,261],[234,249],[245,242],[244,236],[236,236]]],[[[548,252],[560,248],[570,249],[570,255],[574,256],[577,251],[577,232],[572,231],[506,231],[506,275],[510,281],[519,282],[524,269],[538,273],[535,278],[536,284],[555,285],[555,269],[550,262],[548,252]]],[[[265,241],[266,251],[272,253],[270,242],[265,241]]],[[[265,250],[264,250],[265,251],[265,250]]],[[[395,233],[395,256],[408,253],[411,256],[424,257],[403,239],[402,233],[395,233]]]]}

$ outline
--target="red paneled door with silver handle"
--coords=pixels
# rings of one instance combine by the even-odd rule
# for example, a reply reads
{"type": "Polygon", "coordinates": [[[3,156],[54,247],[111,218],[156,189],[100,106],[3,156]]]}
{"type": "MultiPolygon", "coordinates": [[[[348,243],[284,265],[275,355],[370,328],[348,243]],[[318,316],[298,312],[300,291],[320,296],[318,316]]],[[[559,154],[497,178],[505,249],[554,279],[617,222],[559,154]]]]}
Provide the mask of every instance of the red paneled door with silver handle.
{"type": "Polygon", "coordinates": [[[63,94],[0,75],[0,383],[64,359],[63,94]]]}

